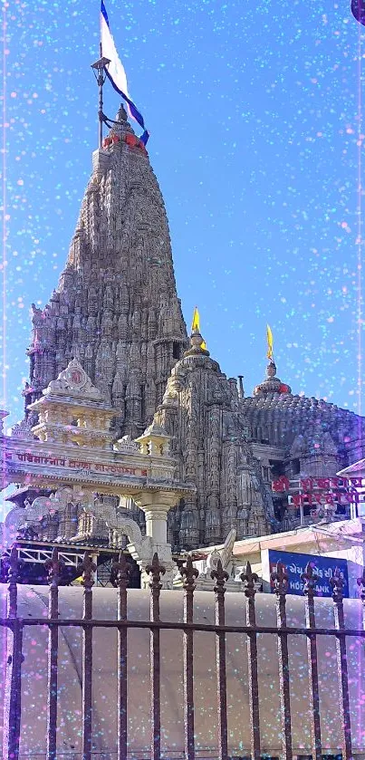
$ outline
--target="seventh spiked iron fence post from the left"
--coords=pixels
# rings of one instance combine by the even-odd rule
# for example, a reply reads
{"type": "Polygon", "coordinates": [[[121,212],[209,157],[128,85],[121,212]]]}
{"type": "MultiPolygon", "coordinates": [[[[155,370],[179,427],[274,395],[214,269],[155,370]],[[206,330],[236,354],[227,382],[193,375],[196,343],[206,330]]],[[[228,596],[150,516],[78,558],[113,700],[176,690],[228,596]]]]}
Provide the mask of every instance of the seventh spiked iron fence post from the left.
{"type": "MultiPolygon", "coordinates": [[[[223,570],[221,560],[216,563],[210,577],[216,581],[216,625],[225,625],[225,593],[228,573],[223,570]]],[[[216,633],[216,690],[218,702],[218,758],[227,760],[228,757],[228,726],[226,717],[226,632],[216,633]]]]}

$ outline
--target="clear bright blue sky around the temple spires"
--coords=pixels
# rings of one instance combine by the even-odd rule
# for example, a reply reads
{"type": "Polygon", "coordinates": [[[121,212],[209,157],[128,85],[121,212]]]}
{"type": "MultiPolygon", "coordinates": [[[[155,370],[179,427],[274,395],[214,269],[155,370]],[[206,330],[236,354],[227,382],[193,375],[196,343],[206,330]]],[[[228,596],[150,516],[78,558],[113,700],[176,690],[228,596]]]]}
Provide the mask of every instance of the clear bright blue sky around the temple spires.
{"type": "MultiPolygon", "coordinates": [[[[189,326],[228,376],[359,410],[361,37],[348,0],[106,0],[151,136],[189,326]]],[[[98,0],[5,9],[5,399],[64,265],[97,147],[98,0]]],[[[114,117],[119,98],[106,91],[114,117]]]]}

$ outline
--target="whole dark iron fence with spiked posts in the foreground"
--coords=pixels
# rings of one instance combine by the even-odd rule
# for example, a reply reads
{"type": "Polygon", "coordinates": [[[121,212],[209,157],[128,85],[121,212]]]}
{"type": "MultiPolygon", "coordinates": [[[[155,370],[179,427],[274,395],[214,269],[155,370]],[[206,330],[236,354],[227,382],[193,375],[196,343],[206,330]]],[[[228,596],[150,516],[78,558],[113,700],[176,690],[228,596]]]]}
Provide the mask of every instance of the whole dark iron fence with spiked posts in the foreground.
{"type": "MultiPolygon", "coordinates": [[[[22,662],[23,635],[27,626],[47,626],[47,760],[57,760],[57,713],[58,713],[58,674],[59,674],[59,631],[61,628],[76,627],[82,630],[82,760],[91,760],[102,753],[92,749],[92,635],[96,629],[113,629],[118,634],[118,749],[117,760],[128,760],[128,693],[127,693],[127,633],[136,628],[149,630],[149,678],[150,678],[150,717],[151,739],[149,760],[161,758],[161,706],[160,706],[160,631],[180,630],[183,635],[183,669],[184,669],[184,736],[185,760],[195,760],[195,728],[194,728],[194,634],[197,631],[209,631],[216,635],[216,694],[217,694],[217,753],[219,760],[229,760],[227,741],[227,694],[226,694],[226,635],[238,633],[246,635],[248,661],[248,694],[250,722],[250,741],[252,760],[260,760],[260,701],[258,691],[258,657],[257,637],[259,634],[271,634],[277,640],[277,659],[279,668],[280,692],[280,722],[282,736],[283,760],[292,760],[292,717],[290,699],[290,673],[288,656],[288,638],[293,635],[303,635],[307,641],[307,664],[309,678],[309,708],[311,722],[312,760],[320,760],[322,755],[320,693],[318,675],[317,637],[334,637],[337,660],[338,705],[341,720],[341,746],[339,751],[342,760],[351,760],[351,719],[349,699],[349,674],[346,651],[346,639],[355,636],[365,637],[365,569],[358,580],[360,599],[362,601],[362,629],[345,627],[343,610],[343,582],[340,572],[335,571],[331,578],[332,602],[334,611],[334,628],[318,628],[315,620],[314,599],[316,596],[317,576],[312,564],[308,563],[303,573],[303,594],[305,596],[305,625],[288,627],[286,619],[286,594],[288,578],[283,564],[278,563],[272,573],[274,594],[276,597],[276,626],[263,626],[256,623],[255,594],[257,575],[252,572],[250,563],[246,564],[245,572],[241,575],[246,597],[245,624],[226,625],[225,593],[228,575],[218,562],[216,570],[211,573],[215,580],[215,615],[214,624],[197,623],[194,621],[194,592],[196,590],[197,569],[190,557],[185,563],[179,563],[183,577],[183,621],[161,621],[159,611],[161,575],[165,568],[155,554],[152,563],[147,568],[150,577],[150,614],[149,620],[132,621],[127,617],[127,589],[129,584],[130,564],[123,553],[120,553],[118,563],[113,565],[113,577],[117,586],[117,619],[96,620],[92,612],[92,586],[95,565],[89,553],[84,554],[82,571],[83,610],[81,619],[59,617],[59,586],[62,582],[63,561],[58,551],[53,550],[52,559],[45,563],[49,577],[48,616],[31,620],[18,615],[17,581],[19,560],[14,546],[10,555],[8,568],[7,614],[0,619],[0,624],[7,630],[7,661],[5,677],[4,705],[4,760],[18,760],[22,716],[22,662]]],[[[177,592],[175,592],[177,593],[177,592]]],[[[337,708],[337,700],[335,700],[337,708]]],[[[80,755],[78,755],[80,756],[80,755]]],[[[111,755],[110,755],[111,756],[111,755]]],[[[245,758],[247,760],[247,758],[245,758]]]]}

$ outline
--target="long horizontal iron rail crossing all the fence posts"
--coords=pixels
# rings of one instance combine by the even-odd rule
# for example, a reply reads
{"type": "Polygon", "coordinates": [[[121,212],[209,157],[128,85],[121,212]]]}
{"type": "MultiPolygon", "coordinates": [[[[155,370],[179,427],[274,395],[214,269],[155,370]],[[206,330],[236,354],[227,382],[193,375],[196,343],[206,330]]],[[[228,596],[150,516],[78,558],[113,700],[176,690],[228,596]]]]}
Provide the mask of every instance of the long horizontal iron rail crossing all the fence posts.
{"type": "MultiPolygon", "coordinates": [[[[79,628],[148,628],[159,630],[207,630],[213,633],[219,631],[226,633],[249,633],[252,629],[247,625],[225,625],[219,626],[208,623],[184,623],[184,622],[164,622],[164,621],[85,621],[83,618],[69,618],[58,620],[51,620],[50,618],[17,618],[22,626],[62,626],[62,627],[79,627],[79,628]]],[[[12,628],[14,622],[9,619],[2,618],[0,625],[4,625],[7,628],[12,628]]],[[[336,639],[344,639],[347,636],[354,636],[363,639],[365,637],[365,630],[347,628],[346,630],[337,630],[333,628],[315,628],[308,630],[307,628],[288,628],[284,626],[278,630],[274,626],[261,626],[258,625],[255,628],[256,633],[276,633],[277,636],[311,636],[315,633],[316,636],[335,636],[336,639]]]]}

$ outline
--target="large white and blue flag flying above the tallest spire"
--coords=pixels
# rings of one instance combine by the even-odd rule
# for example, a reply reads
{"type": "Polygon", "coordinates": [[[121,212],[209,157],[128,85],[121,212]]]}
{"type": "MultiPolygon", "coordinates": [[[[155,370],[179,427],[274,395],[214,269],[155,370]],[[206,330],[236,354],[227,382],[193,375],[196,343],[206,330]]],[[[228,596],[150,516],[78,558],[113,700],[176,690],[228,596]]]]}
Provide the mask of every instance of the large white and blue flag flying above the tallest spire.
{"type": "Polygon", "coordinates": [[[124,71],[124,66],[120,61],[114,40],[110,34],[109,19],[104,0],[101,0],[101,55],[105,58],[109,58],[110,64],[108,68],[105,69],[105,73],[114,90],[119,92],[123,100],[126,101],[131,119],[137,121],[142,128],[143,134],[140,139],[143,144],[146,145],[147,140],[149,139],[149,132],[146,130],[142,114],[139,112],[134,102],[130,100],[126,72],[124,71]]]}

